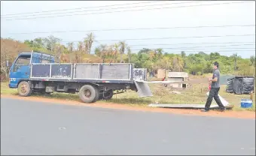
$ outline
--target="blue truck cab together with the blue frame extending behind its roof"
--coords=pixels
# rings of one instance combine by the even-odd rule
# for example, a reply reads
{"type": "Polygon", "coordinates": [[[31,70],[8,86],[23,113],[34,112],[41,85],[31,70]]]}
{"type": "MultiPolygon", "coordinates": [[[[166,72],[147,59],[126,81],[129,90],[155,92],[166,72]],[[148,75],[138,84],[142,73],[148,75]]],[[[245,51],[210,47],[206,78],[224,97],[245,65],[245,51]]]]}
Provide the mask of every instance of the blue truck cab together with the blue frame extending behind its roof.
{"type": "Polygon", "coordinates": [[[20,81],[29,80],[31,64],[54,63],[54,57],[42,52],[21,52],[10,69],[9,88],[17,88],[20,81]]]}

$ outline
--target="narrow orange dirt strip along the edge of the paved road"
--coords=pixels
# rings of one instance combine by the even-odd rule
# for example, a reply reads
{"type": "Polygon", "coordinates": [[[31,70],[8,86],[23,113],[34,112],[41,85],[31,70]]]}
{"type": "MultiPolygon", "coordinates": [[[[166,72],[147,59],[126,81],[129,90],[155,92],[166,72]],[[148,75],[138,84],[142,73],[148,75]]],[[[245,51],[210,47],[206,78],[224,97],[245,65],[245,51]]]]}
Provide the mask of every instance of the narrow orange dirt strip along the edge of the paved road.
{"type": "Polygon", "coordinates": [[[67,105],[79,105],[79,106],[90,106],[90,107],[102,107],[111,108],[119,110],[136,110],[136,111],[148,111],[157,113],[174,113],[174,114],[185,114],[185,115],[203,115],[203,116],[216,116],[216,117],[231,117],[231,118],[255,118],[255,112],[250,111],[210,111],[209,113],[202,113],[200,110],[182,110],[182,109],[165,109],[165,108],[152,108],[152,107],[139,107],[130,106],[125,104],[111,104],[111,103],[94,103],[94,104],[84,104],[80,101],[64,101],[51,98],[38,98],[38,97],[20,97],[15,95],[1,95],[1,98],[15,98],[26,101],[38,101],[47,104],[67,104],[67,105]]]}

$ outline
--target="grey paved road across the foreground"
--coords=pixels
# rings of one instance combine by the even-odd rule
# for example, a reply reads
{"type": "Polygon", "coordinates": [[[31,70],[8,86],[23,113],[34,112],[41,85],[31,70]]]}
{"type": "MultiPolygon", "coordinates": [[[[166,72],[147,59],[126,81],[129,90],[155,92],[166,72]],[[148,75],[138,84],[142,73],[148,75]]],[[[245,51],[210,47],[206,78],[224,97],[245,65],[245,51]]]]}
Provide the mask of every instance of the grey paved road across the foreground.
{"type": "Polygon", "coordinates": [[[255,154],[255,120],[2,98],[1,154],[255,154]]]}

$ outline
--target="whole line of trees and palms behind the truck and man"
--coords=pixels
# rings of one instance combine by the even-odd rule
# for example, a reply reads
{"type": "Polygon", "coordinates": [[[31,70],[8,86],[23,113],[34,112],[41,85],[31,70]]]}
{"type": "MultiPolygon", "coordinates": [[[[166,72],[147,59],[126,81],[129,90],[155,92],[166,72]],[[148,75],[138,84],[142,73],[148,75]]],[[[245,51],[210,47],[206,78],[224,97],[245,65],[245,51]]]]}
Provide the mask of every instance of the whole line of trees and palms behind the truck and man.
{"type": "Polygon", "coordinates": [[[233,54],[230,57],[220,55],[218,52],[198,52],[186,55],[184,51],[180,54],[163,52],[162,48],[149,49],[147,47],[132,53],[130,46],[125,41],[114,44],[101,44],[96,46],[94,54],[90,54],[94,42],[93,33],[87,34],[83,41],[67,43],[62,45],[59,38],[49,36],[46,38],[36,37],[33,40],[25,40],[20,43],[10,38],[1,39],[1,77],[8,77],[6,61],[14,62],[19,52],[28,52],[32,49],[40,52],[48,52],[56,56],[56,62],[130,62],[135,68],[148,68],[148,71],[157,72],[159,68],[172,71],[186,71],[190,74],[212,73],[212,63],[217,61],[220,65],[221,74],[234,74],[251,76],[255,74],[255,56],[241,58],[233,54]],[[86,52],[85,52],[86,51],[86,52]],[[127,51],[127,53],[125,53],[127,51]],[[69,54],[68,54],[69,53],[69,54]],[[69,55],[69,59],[68,59],[69,55]],[[120,60],[119,60],[120,55],[120,60]]]}

